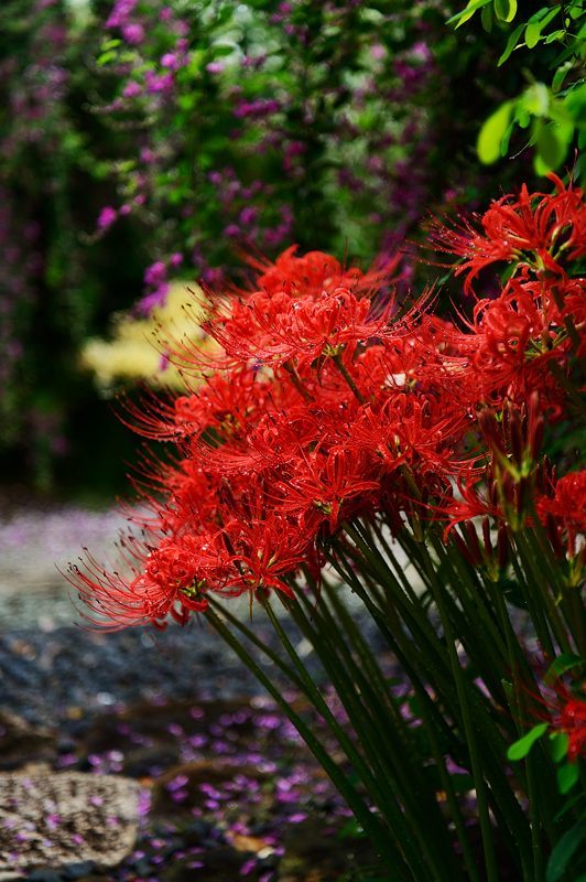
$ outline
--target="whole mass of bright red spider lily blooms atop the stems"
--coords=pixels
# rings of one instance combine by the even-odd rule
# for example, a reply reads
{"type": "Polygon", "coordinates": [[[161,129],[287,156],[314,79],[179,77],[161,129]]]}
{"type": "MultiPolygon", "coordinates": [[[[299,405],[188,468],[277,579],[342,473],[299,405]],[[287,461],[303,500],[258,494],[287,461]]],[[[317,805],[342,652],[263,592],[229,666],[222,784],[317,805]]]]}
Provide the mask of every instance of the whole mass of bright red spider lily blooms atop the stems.
{"type": "MultiPolygon", "coordinates": [[[[493,204],[482,234],[444,232],[467,290],[489,262],[514,263],[464,326],[434,316],[430,292],[399,304],[392,265],[363,273],[294,248],[258,263],[252,290],[213,300],[205,330],[220,352],[177,342],[185,394],[151,396],[132,415],[175,455],[145,460],[137,486],[152,514],[135,518],[140,540],[123,540],[127,574],[91,559],[70,572],[93,614],[115,627],[185,622],[210,593],[292,595],[354,518],[398,530],[419,507],[449,540],[451,526],[478,515],[501,528],[535,517],[531,487],[539,517],[575,553],[584,473],[538,486],[535,466],[544,419],[568,408],[586,322],[573,272],[582,193],[556,187],[493,204]],[[191,368],[206,375],[193,389],[191,368]]],[[[493,555],[506,559],[502,530],[493,555]]]]}

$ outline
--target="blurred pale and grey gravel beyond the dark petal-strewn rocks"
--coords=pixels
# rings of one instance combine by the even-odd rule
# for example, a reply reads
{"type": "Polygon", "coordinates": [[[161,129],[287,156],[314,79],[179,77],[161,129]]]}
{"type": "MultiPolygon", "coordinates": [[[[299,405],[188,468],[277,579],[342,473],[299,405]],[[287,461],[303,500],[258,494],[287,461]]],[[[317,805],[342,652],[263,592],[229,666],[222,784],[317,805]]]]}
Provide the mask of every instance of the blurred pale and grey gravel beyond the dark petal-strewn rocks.
{"type": "MultiPolygon", "coordinates": [[[[205,621],[165,631],[83,626],[73,591],[56,568],[65,569],[86,544],[113,563],[113,542],[124,524],[116,512],[74,507],[17,509],[0,519],[0,708],[35,724],[70,727],[72,708],[82,709],[86,720],[159,695],[171,700],[262,693],[205,621]]],[[[227,604],[248,619],[247,600],[227,604]]],[[[273,641],[260,609],[252,627],[273,641]]],[[[307,647],[300,644],[300,652],[307,647]]],[[[305,660],[313,667],[311,654],[305,660]]],[[[274,666],[268,669],[276,676],[274,666]]]]}

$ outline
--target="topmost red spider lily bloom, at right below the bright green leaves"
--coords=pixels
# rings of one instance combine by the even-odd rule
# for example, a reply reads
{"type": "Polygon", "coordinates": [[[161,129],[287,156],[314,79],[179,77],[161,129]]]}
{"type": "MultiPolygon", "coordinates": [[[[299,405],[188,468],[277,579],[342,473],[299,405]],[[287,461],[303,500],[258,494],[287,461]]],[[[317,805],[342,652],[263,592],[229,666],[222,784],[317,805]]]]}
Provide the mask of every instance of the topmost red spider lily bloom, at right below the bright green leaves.
{"type": "Polygon", "coordinates": [[[555,193],[528,192],[523,184],[518,198],[503,196],[493,202],[474,223],[454,228],[434,224],[433,243],[443,251],[463,258],[456,276],[466,273],[464,290],[474,293],[473,282],[488,266],[497,261],[516,261],[536,270],[564,276],[564,262],[586,254],[586,228],[583,193],[565,187],[554,174],[555,193]]]}

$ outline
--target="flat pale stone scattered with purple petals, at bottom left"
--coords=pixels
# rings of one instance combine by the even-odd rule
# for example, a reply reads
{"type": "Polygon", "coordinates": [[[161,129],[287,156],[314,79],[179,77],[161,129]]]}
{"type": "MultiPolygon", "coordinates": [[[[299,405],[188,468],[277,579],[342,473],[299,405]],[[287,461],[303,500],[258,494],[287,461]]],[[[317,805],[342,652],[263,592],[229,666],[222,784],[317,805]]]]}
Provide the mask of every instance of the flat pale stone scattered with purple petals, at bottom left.
{"type": "Polygon", "coordinates": [[[0,774],[0,879],[85,861],[116,867],[137,839],[139,792],[121,775],[0,774]]]}

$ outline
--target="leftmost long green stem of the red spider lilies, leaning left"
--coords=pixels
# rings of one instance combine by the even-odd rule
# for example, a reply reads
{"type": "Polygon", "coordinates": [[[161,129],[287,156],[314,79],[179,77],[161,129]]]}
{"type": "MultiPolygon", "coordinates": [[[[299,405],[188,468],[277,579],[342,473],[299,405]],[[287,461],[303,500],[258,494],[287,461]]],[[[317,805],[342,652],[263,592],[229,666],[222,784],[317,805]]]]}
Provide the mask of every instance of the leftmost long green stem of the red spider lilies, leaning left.
{"type": "Polygon", "coordinates": [[[208,609],[205,615],[207,621],[218,632],[220,637],[226,641],[231,649],[234,649],[236,655],[249,668],[259,682],[267,689],[269,695],[272,696],[279,707],[286,713],[318,763],[324,767],[341,796],[344,796],[348,803],[348,806],[356,815],[358,822],[362,826],[367,835],[371,837],[372,845],[375,846],[380,859],[384,862],[389,870],[391,868],[397,869],[397,873],[393,876],[394,880],[397,880],[397,882],[403,882],[405,879],[412,879],[413,882],[419,882],[417,878],[409,871],[409,867],[404,859],[402,861],[403,865],[401,865],[402,856],[400,857],[398,851],[394,848],[391,848],[389,836],[380,821],[369,810],[368,806],[362,800],[350,779],[332,760],[329,753],[324,747],[322,742],[314,735],[307,723],[286,701],[281,690],[274,686],[271,679],[264,674],[262,668],[257,665],[252,656],[247,653],[243,645],[232,635],[230,630],[226,627],[221,619],[215,613],[214,610],[208,609]],[[405,875],[405,873],[409,873],[409,875],[405,875]]]}

